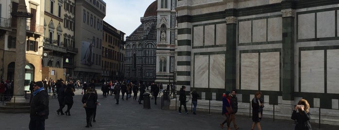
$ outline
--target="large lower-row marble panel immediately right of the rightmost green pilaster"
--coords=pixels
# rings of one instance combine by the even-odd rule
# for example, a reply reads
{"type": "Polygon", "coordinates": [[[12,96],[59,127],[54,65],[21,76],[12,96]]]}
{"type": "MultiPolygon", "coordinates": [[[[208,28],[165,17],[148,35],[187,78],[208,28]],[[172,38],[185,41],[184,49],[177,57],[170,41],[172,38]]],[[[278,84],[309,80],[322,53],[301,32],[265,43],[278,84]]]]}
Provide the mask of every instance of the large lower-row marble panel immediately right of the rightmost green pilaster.
{"type": "Polygon", "coordinates": [[[324,93],[324,50],[301,51],[301,92],[324,93]]]}

